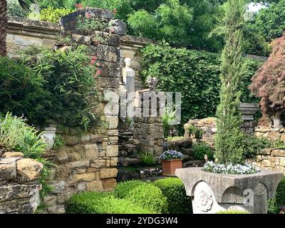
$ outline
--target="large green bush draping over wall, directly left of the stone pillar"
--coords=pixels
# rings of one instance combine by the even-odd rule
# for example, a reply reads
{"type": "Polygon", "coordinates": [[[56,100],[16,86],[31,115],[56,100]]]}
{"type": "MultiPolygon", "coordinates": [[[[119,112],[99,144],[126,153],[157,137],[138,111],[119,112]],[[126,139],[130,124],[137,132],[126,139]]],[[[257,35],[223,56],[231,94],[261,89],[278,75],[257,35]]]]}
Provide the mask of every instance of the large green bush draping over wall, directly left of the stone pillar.
{"type": "Polygon", "coordinates": [[[44,88],[51,94],[46,97],[51,105],[45,109],[45,120],[83,130],[100,122],[93,111],[98,103],[94,80],[96,66],[90,64],[87,53],[86,46],[69,51],[43,49],[39,53],[41,58],[33,68],[41,73],[46,81],[44,88]]]}

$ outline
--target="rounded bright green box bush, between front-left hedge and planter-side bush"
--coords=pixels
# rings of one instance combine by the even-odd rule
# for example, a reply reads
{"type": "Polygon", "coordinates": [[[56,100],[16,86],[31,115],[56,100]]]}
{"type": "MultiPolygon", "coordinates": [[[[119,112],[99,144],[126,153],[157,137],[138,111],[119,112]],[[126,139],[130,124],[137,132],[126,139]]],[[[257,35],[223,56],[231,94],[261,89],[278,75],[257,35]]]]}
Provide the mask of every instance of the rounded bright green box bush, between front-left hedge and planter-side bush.
{"type": "Polygon", "coordinates": [[[162,191],[154,185],[146,184],[135,187],[128,192],[125,199],[152,212],[167,213],[167,199],[162,195],[162,191]]]}

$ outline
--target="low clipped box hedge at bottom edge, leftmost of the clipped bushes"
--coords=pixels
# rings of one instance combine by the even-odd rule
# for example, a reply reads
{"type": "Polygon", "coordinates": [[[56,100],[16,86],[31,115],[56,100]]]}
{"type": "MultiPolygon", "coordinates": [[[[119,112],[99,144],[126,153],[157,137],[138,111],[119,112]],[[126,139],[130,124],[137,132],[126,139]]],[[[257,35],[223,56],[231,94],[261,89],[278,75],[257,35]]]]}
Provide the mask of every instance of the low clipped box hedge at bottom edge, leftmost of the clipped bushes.
{"type": "Polygon", "coordinates": [[[150,214],[127,199],[117,199],[110,192],[85,192],[73,195],[65,203],[66,214],[150,214]]]}

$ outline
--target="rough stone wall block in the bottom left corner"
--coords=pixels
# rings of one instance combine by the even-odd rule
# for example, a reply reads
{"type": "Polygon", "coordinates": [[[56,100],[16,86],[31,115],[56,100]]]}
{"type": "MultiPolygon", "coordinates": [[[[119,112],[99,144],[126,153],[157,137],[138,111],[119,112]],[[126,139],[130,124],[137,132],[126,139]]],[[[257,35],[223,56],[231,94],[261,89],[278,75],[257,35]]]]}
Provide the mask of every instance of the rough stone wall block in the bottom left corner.
{"type": "Polygon", "coordinates": [[[0,214],[32,214],[39,204],[43,165],[23,156],[6,152],[0,158],[0,214]]]}

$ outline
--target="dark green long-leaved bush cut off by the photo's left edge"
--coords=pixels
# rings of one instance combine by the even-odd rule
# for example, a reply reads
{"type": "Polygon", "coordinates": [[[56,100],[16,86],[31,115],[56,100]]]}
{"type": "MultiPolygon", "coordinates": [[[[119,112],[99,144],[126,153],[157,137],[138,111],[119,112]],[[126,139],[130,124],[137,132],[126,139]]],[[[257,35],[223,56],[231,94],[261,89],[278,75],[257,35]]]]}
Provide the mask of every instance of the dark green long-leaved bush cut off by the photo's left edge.
{"type": "Polygon", "coordinates": [[[30,122],[41,123],[49,95],[44,83],[43,76],[24,61],[0,57],[0,112],[24,115],[30,122]]]}

